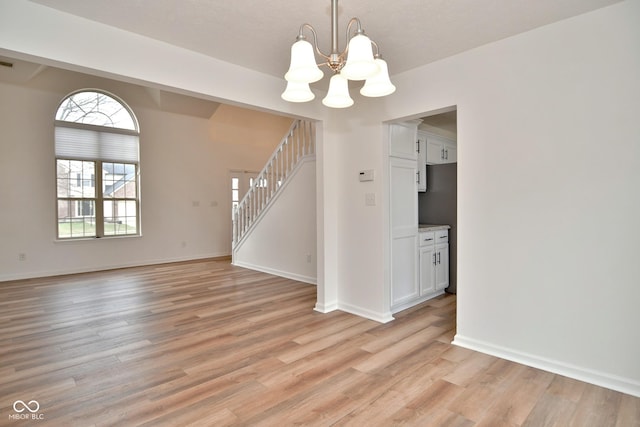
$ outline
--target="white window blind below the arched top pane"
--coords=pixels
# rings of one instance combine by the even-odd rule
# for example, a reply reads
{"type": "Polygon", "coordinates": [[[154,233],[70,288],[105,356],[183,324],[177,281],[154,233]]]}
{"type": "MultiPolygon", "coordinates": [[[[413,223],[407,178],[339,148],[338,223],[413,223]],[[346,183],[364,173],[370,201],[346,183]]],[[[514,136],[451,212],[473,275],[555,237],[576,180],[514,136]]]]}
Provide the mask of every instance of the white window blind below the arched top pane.
{"type": "Polygon", "coordinates": [[[56,157],[138,162],[138,135],[56,126],[56,157]]]}

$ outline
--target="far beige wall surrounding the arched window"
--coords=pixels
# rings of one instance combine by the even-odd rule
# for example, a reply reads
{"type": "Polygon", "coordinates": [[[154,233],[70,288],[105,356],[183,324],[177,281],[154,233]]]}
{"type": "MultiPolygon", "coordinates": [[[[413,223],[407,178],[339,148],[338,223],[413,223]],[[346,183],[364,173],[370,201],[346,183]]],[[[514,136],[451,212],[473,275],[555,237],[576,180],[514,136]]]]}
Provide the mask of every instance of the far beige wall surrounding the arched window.
{"type": "Polygon", "coordinates": [[[0,281],[229,255],[229,169],[261,169],[290,124],[230,106],[211,119],[167,113],[143,88],[54,69],[28,86],[0,84],[0,281]],[[56,241],[53,119],[86,87],[118,95],[138,117],[142,237],[56,241]]]}

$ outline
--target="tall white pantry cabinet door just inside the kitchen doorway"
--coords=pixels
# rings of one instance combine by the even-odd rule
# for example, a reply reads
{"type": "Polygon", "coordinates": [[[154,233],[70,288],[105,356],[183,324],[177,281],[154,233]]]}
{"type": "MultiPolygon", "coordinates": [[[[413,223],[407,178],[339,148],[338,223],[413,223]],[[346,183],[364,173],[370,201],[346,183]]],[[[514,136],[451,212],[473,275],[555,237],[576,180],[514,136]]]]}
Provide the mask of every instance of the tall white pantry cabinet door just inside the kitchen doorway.
{"type": "Polygon", "coordinates": [[[389,158],[391,305],[419,296],[416,161],[389,158]]]}

